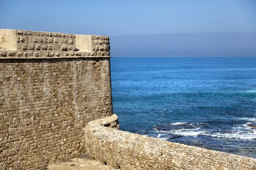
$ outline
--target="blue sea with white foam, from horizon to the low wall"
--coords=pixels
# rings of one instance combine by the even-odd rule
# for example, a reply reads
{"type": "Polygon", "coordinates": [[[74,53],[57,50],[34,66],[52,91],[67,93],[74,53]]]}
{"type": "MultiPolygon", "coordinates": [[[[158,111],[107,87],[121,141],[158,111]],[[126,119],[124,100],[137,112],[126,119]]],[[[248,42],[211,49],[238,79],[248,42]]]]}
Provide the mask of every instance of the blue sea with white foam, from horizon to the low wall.
{"type": "Polygon", "coordinates": [[[120,130],[256,158],[256,57],[112,57],[120,130]]]}

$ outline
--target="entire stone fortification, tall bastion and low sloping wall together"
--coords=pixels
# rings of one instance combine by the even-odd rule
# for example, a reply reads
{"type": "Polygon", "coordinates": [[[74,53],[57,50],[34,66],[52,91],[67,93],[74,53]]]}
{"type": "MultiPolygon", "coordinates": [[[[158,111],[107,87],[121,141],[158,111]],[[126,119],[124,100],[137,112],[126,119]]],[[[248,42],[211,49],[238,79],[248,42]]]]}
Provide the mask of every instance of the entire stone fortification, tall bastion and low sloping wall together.
{"type": "Polygon", "coordinates": [[[109,37],[0,29],[0,170],[86,155],[130,170],[256,170],[256,159],[119,129],[109,37]]]}

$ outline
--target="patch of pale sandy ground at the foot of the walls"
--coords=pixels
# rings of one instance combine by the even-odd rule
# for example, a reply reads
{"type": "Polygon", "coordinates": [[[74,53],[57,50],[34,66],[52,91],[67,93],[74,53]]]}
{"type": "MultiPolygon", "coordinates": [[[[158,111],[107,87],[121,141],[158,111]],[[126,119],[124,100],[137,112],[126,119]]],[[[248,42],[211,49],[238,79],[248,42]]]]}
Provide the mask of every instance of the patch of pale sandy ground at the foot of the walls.
{"type": "Polygon", "coordinates": [[[116,170],[111,166],[103,165],[98,161],[90,161],[82,158],[72,159],[59,164],[52,164],[47,170],[116,170]]]}

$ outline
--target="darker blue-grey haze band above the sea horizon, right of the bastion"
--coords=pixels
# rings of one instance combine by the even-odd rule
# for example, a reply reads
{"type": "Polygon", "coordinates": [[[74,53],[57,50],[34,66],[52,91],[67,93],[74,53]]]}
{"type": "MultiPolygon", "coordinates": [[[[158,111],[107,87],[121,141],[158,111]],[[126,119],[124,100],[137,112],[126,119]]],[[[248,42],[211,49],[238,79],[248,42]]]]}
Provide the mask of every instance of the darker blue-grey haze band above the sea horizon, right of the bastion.
{"type": "Polygon", "coordinates": [[[256,32],[111,36],[112,57],[256,57],[256,32]]]}

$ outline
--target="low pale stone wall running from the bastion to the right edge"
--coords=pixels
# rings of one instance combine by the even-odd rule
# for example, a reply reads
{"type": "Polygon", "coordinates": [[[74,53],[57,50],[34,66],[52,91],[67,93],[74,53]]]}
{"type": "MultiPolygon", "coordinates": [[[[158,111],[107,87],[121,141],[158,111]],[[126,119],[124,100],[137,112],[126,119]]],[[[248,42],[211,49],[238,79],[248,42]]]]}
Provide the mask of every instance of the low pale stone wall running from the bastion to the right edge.
{"type": "Polygon", "coordinates": [[[89,122],[86,153],[125,170],[255,170],[256,159],[163,141],[89,122]]]}

